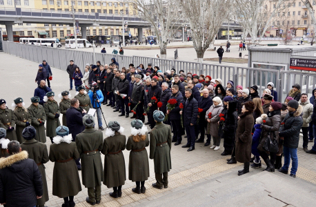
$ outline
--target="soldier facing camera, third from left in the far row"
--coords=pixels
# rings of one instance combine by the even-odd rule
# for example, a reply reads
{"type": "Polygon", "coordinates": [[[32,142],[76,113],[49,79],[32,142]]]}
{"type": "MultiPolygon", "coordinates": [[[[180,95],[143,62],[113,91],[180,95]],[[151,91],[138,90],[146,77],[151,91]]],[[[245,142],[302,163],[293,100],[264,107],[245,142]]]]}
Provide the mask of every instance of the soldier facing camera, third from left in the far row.
{"type": "Polygon", "coordinates": [[[32,97],[32,104],[28,107],[28,114],[31,119],[31,126],[34,126],[36,130],[35,139],[41,143],[46,143],[46,133],[45,133],[45,121],[46,121],[46,112],[39,104],[39,97],[32,97]]]}

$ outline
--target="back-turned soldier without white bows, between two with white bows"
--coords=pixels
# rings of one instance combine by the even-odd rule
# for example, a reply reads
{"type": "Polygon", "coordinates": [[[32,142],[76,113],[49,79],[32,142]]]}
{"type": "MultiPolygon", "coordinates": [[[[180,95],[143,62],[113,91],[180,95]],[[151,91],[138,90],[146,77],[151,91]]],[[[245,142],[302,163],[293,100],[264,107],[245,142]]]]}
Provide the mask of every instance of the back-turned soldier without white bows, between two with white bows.
{"type": "Polygon", "coordinates": [[[100,204],[101,182],[103,181],[103,170],[101,150],[103,148],[103,134],[93,128],[95,118],[84,115],[83,124],[86,129],[76,137],[78,152],[81,157],[82,184],[88,188],[86,201],[91,204],[100,204]]]}

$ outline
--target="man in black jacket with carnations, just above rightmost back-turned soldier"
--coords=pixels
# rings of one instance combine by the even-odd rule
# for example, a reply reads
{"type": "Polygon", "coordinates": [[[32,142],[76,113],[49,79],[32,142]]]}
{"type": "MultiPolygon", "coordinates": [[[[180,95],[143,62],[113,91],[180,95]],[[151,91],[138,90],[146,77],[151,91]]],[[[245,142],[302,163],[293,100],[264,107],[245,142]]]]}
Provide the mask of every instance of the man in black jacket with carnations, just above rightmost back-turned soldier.
{"type": "Polygon", "coordinates": [[[161,88],[157,84],[157,79],[153,78],[150,81],[151,86],[149,87],[148,90],[148,95],[147,95],[147,106],[149,106],[149,111],[147,113],[147,116],[150,117],[148,118],[148,121],[150,123],[150,128],[154,128],[156,125],[155,119],[153,117],[154,111],[158,109],[157,103],[160,101],[161,97],[161,88]],[[156,97],[157,101],[152,101],[152,97],[156,97]]]}

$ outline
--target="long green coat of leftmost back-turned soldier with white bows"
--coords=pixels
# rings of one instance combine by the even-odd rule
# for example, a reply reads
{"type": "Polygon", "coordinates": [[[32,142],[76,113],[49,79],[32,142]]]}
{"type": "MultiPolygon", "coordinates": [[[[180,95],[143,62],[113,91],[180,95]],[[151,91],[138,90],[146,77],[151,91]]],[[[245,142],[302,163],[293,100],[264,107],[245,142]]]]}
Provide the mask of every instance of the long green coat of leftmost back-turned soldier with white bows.
{"type": "Polygon", "coordinates": [[[50,145],[50,161],[55,162],[52,174],[52,195],[62,198],[75,196],[81,191],[75,159],[79,159],[79,152],[74,141],[70,144],[61,142],[61,144],[50,145]],[[66,161],[68,159],[71,160],[66,161]],[[66,162],[59,162],[62,160],[66,162]]]}

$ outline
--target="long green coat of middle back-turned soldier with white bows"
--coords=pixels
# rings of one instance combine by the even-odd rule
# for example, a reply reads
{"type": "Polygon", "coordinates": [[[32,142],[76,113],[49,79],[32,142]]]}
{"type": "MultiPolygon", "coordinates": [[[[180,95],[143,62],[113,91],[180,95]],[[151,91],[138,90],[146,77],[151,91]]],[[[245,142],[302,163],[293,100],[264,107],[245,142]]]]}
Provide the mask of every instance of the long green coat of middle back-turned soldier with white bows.
{"type": "Polygon", "coordinates": [[[108,188],[123,186],[126,181],[125,159],[123,152],[126,148],[125,135],[114,135],[104,139],[102,154],[104,157],[104,181],[108,188]],[[115,153],[115,154],[114,154],[115,153]],[[114,155],[113,155],[114,154],[114,155]]]}

